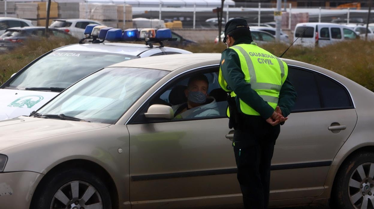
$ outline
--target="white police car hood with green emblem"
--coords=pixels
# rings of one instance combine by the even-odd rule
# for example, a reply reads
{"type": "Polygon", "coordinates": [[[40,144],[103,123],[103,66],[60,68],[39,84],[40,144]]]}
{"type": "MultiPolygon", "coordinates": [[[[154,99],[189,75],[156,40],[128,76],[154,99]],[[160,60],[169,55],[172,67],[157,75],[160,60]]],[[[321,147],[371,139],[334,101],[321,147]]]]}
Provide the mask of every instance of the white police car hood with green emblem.
{"type": "Polygon", "coordinates": [[[0,120],[28,116],[59,92],[0,89],[0,120]]]}

